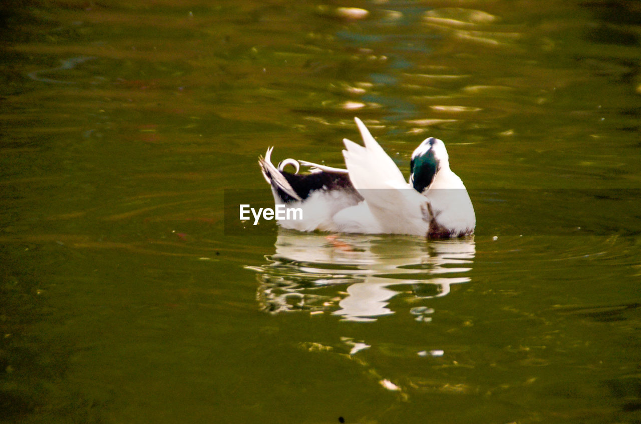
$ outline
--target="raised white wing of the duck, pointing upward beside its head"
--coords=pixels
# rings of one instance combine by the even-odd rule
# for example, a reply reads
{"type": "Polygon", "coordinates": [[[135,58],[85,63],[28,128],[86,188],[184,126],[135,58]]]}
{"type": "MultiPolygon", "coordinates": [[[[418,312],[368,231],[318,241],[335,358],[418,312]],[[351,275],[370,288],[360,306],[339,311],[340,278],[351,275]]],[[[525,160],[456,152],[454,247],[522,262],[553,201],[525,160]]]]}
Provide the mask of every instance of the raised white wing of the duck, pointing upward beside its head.
{"type": "Polygon", "coordinates": [[[355,119],[365,146],[343,140],[351,183],[381,224],[382,232],[424,236],[429,230],[428,200],[405,182],[392,158],[365,124],[355,119]]]}

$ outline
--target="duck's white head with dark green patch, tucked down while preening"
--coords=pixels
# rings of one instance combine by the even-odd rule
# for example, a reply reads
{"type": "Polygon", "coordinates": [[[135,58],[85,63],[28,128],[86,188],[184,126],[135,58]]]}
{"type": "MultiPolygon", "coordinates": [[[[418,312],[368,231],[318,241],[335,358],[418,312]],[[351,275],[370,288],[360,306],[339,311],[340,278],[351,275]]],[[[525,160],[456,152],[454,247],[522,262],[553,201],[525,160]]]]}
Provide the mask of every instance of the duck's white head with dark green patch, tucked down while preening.
{"type": "Polygon", "coordinates": [[[449,168],[445,143],[438,138],[426,138],[412,153],[410,184],[417,192],[424,192],[434,181],[441,168],[449,168]]]}

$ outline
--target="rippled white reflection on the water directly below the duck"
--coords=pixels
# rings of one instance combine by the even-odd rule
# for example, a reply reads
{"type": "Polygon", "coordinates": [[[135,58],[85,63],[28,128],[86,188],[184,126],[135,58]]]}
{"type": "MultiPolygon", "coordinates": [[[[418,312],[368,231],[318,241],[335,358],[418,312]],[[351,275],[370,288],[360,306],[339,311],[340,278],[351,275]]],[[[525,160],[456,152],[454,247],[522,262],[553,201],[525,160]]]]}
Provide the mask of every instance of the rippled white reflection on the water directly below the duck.
{"type": "Polygon", "coordinates": [[[451,284],[468,282],[474,240],[417,242],[407,236],[359,236],[340,240],[280,230],[270,263],[260,272],[258,301],[272,313],[332,311],[345,320],[371,321],[393,314],[390,299],[404,298],[418,320],[431,309],[421,299],[445,296],[451,284]]]}

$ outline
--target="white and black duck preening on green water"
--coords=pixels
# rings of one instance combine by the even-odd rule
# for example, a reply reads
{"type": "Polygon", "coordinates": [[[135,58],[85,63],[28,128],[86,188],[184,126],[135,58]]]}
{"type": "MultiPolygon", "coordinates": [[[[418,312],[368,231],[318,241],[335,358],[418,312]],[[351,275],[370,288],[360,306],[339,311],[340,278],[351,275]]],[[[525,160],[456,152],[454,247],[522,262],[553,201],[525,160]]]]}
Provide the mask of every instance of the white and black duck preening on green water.
{"type": "Polygon", "coordinates": [[[409,234],[428,238],[470,236],[476,216],[463,181],[449,167],[445,143],[423,140],[412,152],[406,181],[359,118],[363,144],[343,139],[345,168],[285,159],[275,166],[269,147],[258,164],[274,203],[301,213],[278,224],[297,231],[409,234]],[[294,172],[285,168],[294,167],[294,172]],[[309,168],[301,173],[301,167],[309,168]]]}

